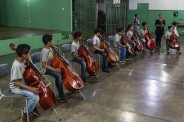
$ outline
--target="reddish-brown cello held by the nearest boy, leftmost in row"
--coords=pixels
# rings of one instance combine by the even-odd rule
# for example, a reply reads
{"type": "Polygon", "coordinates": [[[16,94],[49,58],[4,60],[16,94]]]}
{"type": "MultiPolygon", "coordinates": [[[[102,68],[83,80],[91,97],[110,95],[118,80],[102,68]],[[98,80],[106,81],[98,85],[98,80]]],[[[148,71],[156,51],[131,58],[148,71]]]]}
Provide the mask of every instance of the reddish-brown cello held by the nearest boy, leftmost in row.
{"type": "MultiPolygon", "coordinates": [[[[16,50],[13,43],[10,44],[10,48],[12,50],[16,50]]],[[[55,94],[50,89],[49,84],[44,82],[43,75],[40,73],[40,71],[38,71],[38,69],[30,60],[26,60],[26,68],[23,73],[23,77],[28,86],[38,88],[40,106],[44,110],[49,108],[54,109],[54,106],[56,105],[55,94]]]]}

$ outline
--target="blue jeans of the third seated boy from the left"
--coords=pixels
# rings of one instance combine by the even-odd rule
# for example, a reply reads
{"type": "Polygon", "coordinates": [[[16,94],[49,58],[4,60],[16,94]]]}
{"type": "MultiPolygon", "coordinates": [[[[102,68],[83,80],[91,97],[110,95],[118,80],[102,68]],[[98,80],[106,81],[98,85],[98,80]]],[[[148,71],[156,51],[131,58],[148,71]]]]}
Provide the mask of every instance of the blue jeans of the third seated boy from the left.
{"type": "Polygon", "coordinates": [[[86,62],[78,60],[77,58],[74,58],[72,61],[77,62],[78,64],[81,65],[81,77],[82,79],[85,79],[86,78],[86,62]]]}

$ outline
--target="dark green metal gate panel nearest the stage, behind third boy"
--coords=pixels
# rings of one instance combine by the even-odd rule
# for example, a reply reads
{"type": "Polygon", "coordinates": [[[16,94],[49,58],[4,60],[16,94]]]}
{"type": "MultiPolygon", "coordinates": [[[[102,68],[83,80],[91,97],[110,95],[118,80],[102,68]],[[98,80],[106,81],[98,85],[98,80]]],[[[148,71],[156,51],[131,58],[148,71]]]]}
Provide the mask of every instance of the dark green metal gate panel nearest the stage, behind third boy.
{"type": "Polygon", "coordinates": [[[97,26],[97,10],[96,0],[73,0],[73,30],[91,38],[97,26]]]}

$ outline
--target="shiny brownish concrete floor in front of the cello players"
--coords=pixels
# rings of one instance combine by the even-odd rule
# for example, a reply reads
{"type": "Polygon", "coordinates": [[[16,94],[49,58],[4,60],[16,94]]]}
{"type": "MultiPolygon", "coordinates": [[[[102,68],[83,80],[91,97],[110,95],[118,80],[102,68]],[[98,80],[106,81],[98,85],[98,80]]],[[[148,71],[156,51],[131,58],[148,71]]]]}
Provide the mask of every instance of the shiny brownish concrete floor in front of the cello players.
{"type": "MultiPolygon", "coordinates": [[[[0,63],[14,57],[0,57],[0,63]]],[[[89,85],[82,90],[87,101],[73,94],[67,103],[58,103],[62,122],[184,122],[184,53],[167,55],[162,48],[152,56],[138,54],[121,67],[110,69],[110,74],[100,71],[99,82],[87,78],[89,85]]],[[[0,101],[0,122],[20,122],[24,101],[15,99],[11,109],[10,100],[0,101]]],[[[30,116],[32,122],[59,122],[52,109],[39,111],[40,117],[30,116]]]]}

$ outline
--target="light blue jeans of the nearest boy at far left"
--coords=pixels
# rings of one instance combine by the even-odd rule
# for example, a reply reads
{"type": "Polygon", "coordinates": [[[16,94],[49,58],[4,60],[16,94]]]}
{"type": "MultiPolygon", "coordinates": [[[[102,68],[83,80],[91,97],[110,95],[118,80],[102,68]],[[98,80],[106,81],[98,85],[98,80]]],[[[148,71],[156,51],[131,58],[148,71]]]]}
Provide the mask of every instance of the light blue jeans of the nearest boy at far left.
{"type": "MultiPolygon", "coordinates": [[[[20,95],[25,96],[27,99],[28,113],[31,113],[39,102],[38,94],[31,91],[20,89],[20,95]]],[[[27,108],[24,107],[24,113],[27,113],[27,108]]]]}

